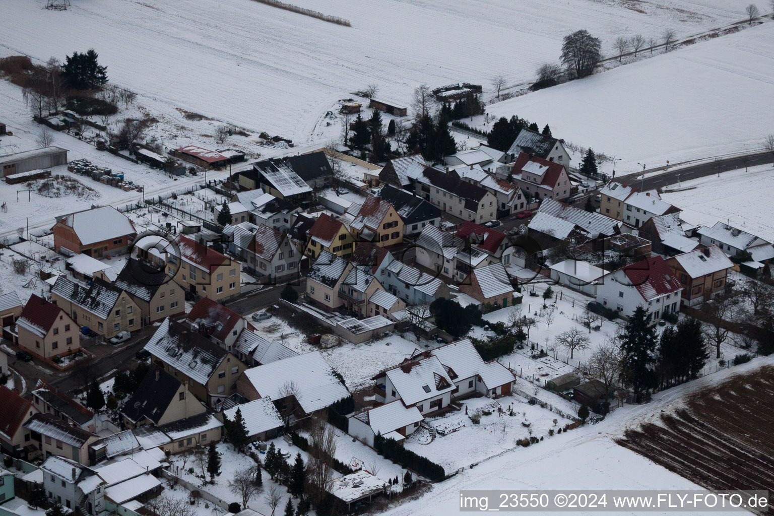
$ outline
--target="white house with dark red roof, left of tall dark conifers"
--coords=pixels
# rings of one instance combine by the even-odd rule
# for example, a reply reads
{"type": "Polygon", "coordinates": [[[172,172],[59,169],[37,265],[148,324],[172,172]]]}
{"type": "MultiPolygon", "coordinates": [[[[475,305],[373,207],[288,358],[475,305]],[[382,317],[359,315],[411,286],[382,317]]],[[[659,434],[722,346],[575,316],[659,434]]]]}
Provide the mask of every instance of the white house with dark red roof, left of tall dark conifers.
{"type": "Polygon", "coordinates": [[[670,266],[656,255],[605,274],[597,285],[597,302],[623,317],[642,306],[655,323],[665,313],[680,311],[682,291],[670,266]]]}

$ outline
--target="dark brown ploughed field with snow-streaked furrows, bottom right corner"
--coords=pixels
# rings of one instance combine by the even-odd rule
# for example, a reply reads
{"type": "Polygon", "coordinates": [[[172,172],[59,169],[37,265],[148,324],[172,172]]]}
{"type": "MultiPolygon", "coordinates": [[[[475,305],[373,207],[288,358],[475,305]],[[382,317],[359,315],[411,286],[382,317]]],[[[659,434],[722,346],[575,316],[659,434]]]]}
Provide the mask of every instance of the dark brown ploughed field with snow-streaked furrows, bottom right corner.
{"type": "Polygon", "coordinates": [[[708,490],[768,490],[770,505],[772,431],[774,367],[766,366],[690,396],[683,408],[627,430],[617,443],[708,490]]]}

